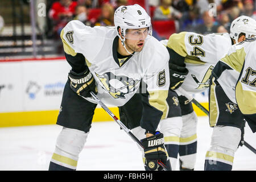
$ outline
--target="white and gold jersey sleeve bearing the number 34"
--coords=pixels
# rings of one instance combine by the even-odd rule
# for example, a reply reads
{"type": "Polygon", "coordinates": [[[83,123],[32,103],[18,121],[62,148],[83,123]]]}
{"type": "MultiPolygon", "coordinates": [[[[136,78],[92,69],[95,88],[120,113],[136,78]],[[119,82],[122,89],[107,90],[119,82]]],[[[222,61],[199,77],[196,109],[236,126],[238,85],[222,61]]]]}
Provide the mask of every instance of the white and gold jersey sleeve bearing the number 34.
{"type": "Polygon", "coordinates": [[[167,43],[167,48],[172,50],[170,61],[179,60],[181,56],[186,58],[185,63],[216,63],[230,46],[228,34],[201,35],[194,32],[172,34],[167,43]]]}

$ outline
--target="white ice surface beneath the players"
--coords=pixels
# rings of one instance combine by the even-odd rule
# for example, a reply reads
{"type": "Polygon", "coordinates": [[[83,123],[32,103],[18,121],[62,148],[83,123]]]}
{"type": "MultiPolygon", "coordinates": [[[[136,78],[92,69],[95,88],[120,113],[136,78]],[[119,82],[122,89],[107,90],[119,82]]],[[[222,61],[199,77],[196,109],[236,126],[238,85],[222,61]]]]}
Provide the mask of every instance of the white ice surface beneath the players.
{"type": "MultiPolygon", "coordinates": [[[[44,171],[55,150],[58,125],[0,128],[1,171],[44,171]]],[[[207,117],[199,117],[197,125],[197,160],[195,170],[204,169],[204,158],[209,148],[212,128],[207,117]]],[[[245,140],[256,148],[256,134],[245,127],[245,140]]],[[[82,171],[139,171],[144,170],[141,151],[117,123],[94,122],[77,164],[82,171]]],[[[178,170],[178,167],[177,167],[178,170]]],[[[239,147],[233,170],[256,170],[256,155],[245,146],[239,147]]]]}

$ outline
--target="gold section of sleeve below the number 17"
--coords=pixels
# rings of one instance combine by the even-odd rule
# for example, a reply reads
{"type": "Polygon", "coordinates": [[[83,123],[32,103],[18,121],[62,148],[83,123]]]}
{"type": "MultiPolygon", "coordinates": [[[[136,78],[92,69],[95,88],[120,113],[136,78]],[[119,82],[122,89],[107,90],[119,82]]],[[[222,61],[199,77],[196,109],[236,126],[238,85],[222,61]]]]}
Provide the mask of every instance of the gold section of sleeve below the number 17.
{"type": "Polygon", "coordinates": [[[256,102],[253,98],[256,98],[256,92],[243,90],[241,82],[238,81],[236,86],[236,100],[243,114],[256,113],[256,102]]]}

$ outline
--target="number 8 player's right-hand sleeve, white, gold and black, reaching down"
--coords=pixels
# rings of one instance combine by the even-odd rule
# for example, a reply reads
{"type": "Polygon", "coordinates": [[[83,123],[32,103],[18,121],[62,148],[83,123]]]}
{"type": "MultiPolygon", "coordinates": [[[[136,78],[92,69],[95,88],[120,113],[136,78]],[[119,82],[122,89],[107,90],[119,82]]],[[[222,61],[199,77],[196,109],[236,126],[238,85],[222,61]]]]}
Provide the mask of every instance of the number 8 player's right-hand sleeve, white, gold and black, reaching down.
{"type": "Polygon", "coordinates": [[[160,119],[167,117],[166,98],[170,86],[168,60],[168,51],[163,46],[161,53],[155,52],[154,56],[148,60],[151,64],[147,66],[147,71],[142,78],[143,114],[141,126],[146,131],[155,132],[160,119]]]}

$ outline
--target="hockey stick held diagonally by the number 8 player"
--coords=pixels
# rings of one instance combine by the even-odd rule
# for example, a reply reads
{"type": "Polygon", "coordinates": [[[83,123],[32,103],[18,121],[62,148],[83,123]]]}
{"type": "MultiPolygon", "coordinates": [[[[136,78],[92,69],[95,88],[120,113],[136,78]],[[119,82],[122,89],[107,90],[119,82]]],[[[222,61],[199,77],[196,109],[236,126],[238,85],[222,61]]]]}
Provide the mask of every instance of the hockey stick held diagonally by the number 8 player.
{"type": "MultiPolygon", "coordinates": [[[[98,104],[100,104],[101,107],[114,119],[114,121],[118,123],[121,129],[123,129],[144,150],[141,141],[137,137],[135,137],[133,133],[131,133],[131,130],[127,129],[127,127],[123,125],[123,123],[112,113],[112,111],[109,110],[109,108],[100,100],[100,98],[96,96],[96,94],[94,94],[93,92],[90,92],[90,94],[92,95],[94,100],[96,100],[98,104]]],[[[85,99],[85,97],[81,97],[85,99]]],[[[158,164],[163,167],[164,171],[168,171],[166,166],[161,161],[158,161],[158,164]]]]}

